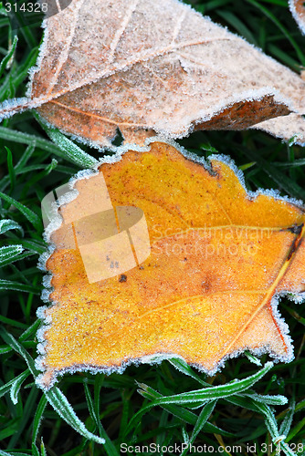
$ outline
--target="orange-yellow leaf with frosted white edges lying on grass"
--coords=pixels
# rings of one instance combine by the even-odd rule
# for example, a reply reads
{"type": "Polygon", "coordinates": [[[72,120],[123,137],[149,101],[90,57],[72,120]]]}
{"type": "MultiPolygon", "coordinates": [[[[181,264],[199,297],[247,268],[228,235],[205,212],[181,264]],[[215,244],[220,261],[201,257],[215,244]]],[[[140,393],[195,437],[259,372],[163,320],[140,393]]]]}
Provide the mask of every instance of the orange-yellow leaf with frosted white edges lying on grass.
{"type": "MultiPolygon", "coordinates": [[[[41,387],[64,372],[121,372],[173,354],[208,374],[245,349],[293,358],[277,305],[282,295],[304,297],[300,202],[247,192],[228,158],[206,163],[164,142],[106,158],[97,173],[81,171],[74,189],[59,199],[63,224],[47,228],[55,248],[43,257],[45,299],[53,305],[38,312],[46,324],[38,335],[41,387]],[[109,199],[100,196],[104,183],[109,199]],[[82,228],[98,256],[112,228],[97,212],[112,206],[142,210],[151,252],[124,274],[89,282],[82,228]]],[[[122,259],[124,252],[111,257],[118,267],[122,259]]],[[[100,255],[95,267],[109,261],[100,255]]]]}

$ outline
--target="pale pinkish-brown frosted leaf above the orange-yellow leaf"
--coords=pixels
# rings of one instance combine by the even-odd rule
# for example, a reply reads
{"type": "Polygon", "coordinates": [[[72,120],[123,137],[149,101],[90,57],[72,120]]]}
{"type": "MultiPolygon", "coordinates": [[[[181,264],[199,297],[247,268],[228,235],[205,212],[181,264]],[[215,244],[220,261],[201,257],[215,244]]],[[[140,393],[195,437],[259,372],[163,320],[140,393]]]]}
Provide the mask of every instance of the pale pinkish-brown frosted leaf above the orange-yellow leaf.
{"type": "Polygon", "coordinates": [[[73,0],[45,26],[28,98],[0,118],[36,108],[98,146],[253,125],[305,141],[300,76],[177,0],[73,0]]]}

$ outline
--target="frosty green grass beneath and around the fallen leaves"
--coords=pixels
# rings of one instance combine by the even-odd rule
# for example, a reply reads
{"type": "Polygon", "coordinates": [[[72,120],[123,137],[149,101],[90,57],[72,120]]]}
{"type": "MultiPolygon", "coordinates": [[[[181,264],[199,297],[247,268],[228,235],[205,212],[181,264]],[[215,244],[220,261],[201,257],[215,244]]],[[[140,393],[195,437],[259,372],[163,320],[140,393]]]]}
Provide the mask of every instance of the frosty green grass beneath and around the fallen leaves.
{"type": "MultiPolygon", "coordinates": [[[[283,64],[295,70],[305,65],[305,38],[285,0],[188,3],[283,64]]],[[[39,27],[19,29],[17,43],[15,35],[0,15],[0,61],[9,43],[16,46],[9,69],[12,55],[0,65],[0,101],[24,95],[27,70],[37,58],[39,27]]],[[[305,200],[305,155],[298,146],[255,130],[196,132],[180,142],[205,157],[213,150],[230,155],[252,191],[274,188],[305,200]]],[[[40,202],[98,157],[97,150],[58,141],[58,133],[46,132],[31,112],[0,126],[0,456],[118,455],[121,443],[179,442],[209,446],[202,454],[212,449],[214,454],[275,454],[274,442],[285,454],[305,454],[305,306],[286,299],[279,309],[294,340],[296,358],[289,364],[272,367],[263,356],[259,367],[256,358],[243,356],[205,378],[172,359],[159,366],[131,366],[122,375],[67,375],[47,394],[37,389],[33,358],[42,289],[37,257],[47,248],[40,202]],[[286,443],[279,442],[282,434],[286,443]]]]}

